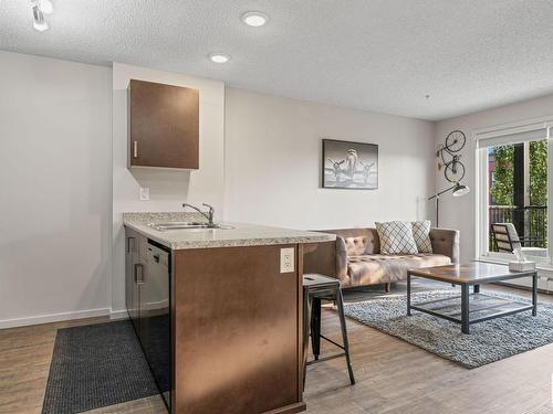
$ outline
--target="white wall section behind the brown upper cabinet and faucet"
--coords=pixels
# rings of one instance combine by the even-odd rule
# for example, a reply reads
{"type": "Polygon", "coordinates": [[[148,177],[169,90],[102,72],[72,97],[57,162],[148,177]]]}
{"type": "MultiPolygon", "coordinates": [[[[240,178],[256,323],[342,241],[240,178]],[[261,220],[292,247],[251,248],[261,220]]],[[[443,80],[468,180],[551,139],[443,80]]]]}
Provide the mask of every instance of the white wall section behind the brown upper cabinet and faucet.
{"type": "Polygon", "coordinates": [[[182,202],[223,210],[225,84],[178,73],[113,64],[113,280],[112,310],[125,308],[123,212],[180,211],[182,202]],[[127,86],[129,79],[185,86],[200,92],[199,170],[127,169],[127,86]],[[150,191],[139,201],[139,188],[150,191]]]}

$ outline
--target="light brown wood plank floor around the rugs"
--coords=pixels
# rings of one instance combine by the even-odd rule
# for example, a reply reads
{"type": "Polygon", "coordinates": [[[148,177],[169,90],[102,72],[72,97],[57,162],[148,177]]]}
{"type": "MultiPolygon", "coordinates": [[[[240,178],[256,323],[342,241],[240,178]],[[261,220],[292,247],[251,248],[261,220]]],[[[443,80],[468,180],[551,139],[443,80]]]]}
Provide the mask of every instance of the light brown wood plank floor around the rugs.
{"type": "MultiPolygon", "coordinates": [[[[398,285],[392,295],[403,291],[404,286],[398,285]]],[[[345,298],[365,300],[379,295],[382,291],[355,290],[345,298]]],[[[540,295],[540,300],[553,302],[553,297],[540,295]]],[[[105,320],[0,330],[0,413],[40,413],[56,329],[105,320]]],[[[310,367],[305,388],[309,413],[553,413],[553,344],[467,370],[352,319],[347,327],[357,383],[349,386],[343,359],[310,367]]],[[[340,339],[337,316],[328,309],[323,311],[323,333],[340,339]]],[[[324,341],[322,347],[323,353],[334,351],[324,341]]],[[[88,413],[153,414],[165,413],[165,407],[160,397],[153,396],[88,413]]]]}

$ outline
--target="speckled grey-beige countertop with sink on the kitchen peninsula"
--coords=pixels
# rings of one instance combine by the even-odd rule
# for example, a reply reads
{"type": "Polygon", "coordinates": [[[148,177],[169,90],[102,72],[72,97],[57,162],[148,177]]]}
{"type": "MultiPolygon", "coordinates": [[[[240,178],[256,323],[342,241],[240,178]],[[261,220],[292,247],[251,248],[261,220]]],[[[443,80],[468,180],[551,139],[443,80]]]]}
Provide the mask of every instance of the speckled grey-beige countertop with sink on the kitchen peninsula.
{"type": "Polygon", "coordinates": [[[206,221],[199,213],[123,213],[123,224],[171,250],[261,246],[272,244],[320,243],[336,240],[334,234],[270,227],[247,223],[221,224],[233,229],[158,231],[149,223],[206,221]]]}

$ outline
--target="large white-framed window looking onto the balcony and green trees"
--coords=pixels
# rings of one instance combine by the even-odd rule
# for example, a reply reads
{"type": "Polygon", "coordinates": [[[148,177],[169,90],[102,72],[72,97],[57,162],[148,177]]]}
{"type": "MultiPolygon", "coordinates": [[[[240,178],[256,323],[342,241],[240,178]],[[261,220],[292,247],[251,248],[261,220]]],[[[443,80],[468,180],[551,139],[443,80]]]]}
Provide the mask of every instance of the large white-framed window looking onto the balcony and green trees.
{"type": "Polygon", "coordinates": [[[551,263],[550,124],[521,123],[479,131],[476,138],[479,255],[512,259],[498,248],[492,231],[492,224],[512,223],[523,254],[551,263]]]}

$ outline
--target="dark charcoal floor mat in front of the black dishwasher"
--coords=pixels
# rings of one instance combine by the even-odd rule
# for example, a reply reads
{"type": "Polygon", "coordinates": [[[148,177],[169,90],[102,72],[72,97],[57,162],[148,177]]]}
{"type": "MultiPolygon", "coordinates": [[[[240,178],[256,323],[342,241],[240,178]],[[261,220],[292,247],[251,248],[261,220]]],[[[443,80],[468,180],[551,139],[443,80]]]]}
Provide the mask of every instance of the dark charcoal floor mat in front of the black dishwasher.
{"type": "Polygon", "coordinates": [[[131,321],[58,330],[43,414],[81,413],[157,393],[131,321]]]}

